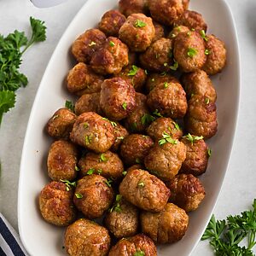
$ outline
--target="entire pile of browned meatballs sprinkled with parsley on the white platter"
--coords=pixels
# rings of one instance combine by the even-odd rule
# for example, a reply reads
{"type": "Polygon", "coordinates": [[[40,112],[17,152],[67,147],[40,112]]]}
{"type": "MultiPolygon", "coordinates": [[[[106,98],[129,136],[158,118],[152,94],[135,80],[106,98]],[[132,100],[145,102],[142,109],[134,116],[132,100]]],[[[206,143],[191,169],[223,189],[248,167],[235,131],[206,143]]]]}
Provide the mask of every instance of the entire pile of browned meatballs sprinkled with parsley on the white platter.
{"type": "Polygon", "coordinates": [[[45,127],[42,217],[67,227],[71,256],[157,255],[185,236],[206,195],[224,42],[189,0],[120,0],[71,52],[76,100],[45,127]]]}

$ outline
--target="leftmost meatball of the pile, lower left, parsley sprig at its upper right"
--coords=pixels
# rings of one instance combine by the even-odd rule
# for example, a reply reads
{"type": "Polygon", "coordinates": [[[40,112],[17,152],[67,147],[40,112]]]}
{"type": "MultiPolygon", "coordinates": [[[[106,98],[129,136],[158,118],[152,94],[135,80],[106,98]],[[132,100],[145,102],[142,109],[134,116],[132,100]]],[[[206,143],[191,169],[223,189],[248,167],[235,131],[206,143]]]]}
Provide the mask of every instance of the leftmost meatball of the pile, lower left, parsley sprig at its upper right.
{"type": "Polygon", "coordinates": [[[67,226],[76,217],[73,207],[73,188],[61,182],[51,182],[39,195],[40,212],[47,222],[57,226],[67,226]]]}

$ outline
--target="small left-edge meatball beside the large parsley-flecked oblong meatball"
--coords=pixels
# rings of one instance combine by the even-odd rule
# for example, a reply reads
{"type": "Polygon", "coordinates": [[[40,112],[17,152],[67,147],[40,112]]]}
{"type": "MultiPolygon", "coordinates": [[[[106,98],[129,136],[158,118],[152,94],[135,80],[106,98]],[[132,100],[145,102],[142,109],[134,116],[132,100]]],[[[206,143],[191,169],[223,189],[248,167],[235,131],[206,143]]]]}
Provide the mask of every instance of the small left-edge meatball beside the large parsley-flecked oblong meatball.
{"type": "Polygon", "coordinates": [[[46,125],[46,131],[50,137],[55,139],[67,139],[77,116],[68,108],[58,109],[49,119],[46,125]]]}

